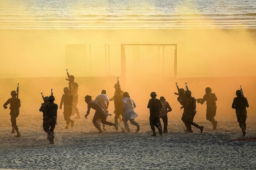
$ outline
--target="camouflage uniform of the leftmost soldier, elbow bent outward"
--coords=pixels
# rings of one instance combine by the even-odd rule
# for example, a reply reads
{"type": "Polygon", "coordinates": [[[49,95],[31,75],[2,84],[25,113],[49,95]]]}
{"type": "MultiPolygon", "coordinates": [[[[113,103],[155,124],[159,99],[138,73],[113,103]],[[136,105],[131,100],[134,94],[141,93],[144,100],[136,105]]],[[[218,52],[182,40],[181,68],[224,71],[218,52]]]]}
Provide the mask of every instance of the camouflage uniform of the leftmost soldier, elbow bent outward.
{"type": "Polygon", "coordinates": [[[19,131],[19,128],[16,124],[16,118],[20,114],[20,99],[18,99],[16,97],[12,97],[4,103],[4,107],[7,108],[8,104],[10,104],[10,110],[11,110],[10,115],[11,115],[12,128],[14,128],[16,131],[19,131]]]}

